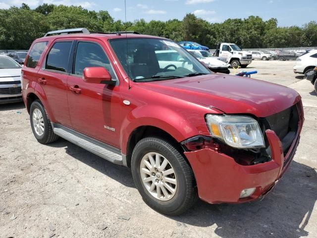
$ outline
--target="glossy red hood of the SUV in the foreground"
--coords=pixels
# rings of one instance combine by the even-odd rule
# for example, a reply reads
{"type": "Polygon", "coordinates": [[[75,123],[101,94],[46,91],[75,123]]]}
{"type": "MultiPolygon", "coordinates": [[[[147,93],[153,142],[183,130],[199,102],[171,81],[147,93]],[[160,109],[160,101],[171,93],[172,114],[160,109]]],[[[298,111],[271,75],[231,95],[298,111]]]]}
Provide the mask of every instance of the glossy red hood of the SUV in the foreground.
{"type": "Polygon", "coordinates": [[[299,94],[288,87],[224,74],[145,82],[137,86],[226,114],[252,114],[259,118],[279,113],[300,100],[299,94]]]}

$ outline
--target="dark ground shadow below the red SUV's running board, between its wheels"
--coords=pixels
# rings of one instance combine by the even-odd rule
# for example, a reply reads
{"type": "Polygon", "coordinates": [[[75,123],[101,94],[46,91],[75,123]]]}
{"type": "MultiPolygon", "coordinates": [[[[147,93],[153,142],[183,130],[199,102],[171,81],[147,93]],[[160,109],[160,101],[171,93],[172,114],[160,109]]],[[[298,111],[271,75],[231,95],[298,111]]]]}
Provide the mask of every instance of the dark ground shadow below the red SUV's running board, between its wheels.
{"type": "Polygon", "coordinates": [[[76,160],[94,168],[111,179],[122,183],[124,186],[135,187],[129,168],[113,164],[62,138],[59,138],[55,143],[47,145],[55,148],[66,146],[65,152],[76,160]]]}

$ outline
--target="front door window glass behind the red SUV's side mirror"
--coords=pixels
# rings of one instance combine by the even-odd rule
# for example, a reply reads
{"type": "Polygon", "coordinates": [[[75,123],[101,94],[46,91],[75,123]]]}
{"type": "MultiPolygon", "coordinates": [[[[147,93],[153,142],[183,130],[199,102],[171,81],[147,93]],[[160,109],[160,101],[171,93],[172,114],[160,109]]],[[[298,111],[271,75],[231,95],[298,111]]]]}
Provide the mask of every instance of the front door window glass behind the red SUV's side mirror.
{"type": "Polygon", "coordinates": [[[116,78],[105,51],[96,43],[79,42],[77,45],[74,74],[83,75],[86,67],[105,67],[111,78],[116,78]]]}

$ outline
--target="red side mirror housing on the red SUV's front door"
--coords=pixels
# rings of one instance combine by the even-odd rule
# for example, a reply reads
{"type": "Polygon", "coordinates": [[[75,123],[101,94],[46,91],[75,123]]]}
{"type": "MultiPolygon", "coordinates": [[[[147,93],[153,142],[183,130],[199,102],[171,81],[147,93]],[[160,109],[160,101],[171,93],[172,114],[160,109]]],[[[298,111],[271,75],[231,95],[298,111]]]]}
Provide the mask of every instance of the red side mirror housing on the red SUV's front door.
{"type": "Polygon", "coordinates": [[[116,80],[111,79],[111,75],[104,67],[84,68],[83,80],[86,83],[101,83],[115,85],[116,80]]]}

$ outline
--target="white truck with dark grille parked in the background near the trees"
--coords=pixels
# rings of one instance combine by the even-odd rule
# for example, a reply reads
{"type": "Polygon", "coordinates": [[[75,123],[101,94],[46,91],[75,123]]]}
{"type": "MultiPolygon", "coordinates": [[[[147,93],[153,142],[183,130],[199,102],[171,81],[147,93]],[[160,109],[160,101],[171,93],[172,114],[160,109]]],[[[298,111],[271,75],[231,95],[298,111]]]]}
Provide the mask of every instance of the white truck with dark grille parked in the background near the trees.
{"type": "Polygon", "coordinates": [[[230,63],[231,68],[245,68],[252,62],[252,54],[242,51],[236,44],[218,43],[215,56],[224,57],[230,63]]]}

